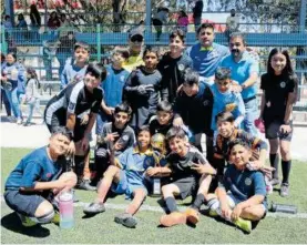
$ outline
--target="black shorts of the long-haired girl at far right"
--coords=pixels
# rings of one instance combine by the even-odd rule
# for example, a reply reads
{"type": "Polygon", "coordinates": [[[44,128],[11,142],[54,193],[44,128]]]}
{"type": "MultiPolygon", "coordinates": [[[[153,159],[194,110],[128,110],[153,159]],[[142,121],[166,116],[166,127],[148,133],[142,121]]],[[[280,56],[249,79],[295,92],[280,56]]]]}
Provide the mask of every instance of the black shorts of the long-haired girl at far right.
{"type": "Polygon", "coordinates": [[[283,125],[284,122],[282,121],[272,121],[266,123],[265,122],[265,136],[268,140],[274,140],[279,137],[280,141],[291,141],[293,139],[293,122],[290,122],[291,132],[289,133],[283,133],[280,132],[280,125],[283,125]]]}

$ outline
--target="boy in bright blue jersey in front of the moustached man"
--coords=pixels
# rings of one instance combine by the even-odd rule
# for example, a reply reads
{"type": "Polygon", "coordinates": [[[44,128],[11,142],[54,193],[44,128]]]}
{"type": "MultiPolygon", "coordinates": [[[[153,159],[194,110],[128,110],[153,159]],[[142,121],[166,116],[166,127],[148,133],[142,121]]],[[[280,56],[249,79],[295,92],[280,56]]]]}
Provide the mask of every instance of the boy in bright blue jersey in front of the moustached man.
{"type": "Polygon", "coordinates": [[[244,120],[245,105],[241,93],[232,91],[231,70],[218,68],[215,72],[215,83],[211,89],[214,95],[211,123],[214,135],[216,136],[217,134],[215,116],[223,111],[232,112],[235,116],[234,125],[239,127],[244,120]]]}

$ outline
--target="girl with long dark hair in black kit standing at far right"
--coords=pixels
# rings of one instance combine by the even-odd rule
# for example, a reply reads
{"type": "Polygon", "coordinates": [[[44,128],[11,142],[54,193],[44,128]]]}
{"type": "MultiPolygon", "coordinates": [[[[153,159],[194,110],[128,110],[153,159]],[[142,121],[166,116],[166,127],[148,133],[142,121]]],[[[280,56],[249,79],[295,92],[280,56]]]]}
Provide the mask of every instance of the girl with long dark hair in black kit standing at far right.
{"type": "Polygon", "coordinates": [[[280,149],[283,172],[280,196],[289,194],[291,112],[297,98],[297,84],[298,79],[293,70],[288,51],[273,49],[268,55],[267,73],[262,75],[263,98],[259,119],[265,123],[265,134],[269,142],[269,162],[275,169],[273,185],[279,184],[278,149],[280,149]]]}

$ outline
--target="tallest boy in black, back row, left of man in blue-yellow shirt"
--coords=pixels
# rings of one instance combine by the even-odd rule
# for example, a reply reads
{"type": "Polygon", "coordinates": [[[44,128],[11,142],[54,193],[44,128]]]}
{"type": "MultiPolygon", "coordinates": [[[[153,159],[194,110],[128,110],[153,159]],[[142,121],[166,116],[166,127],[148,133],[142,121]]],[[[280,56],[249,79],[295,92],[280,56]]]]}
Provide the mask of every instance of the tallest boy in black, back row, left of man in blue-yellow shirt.
{"type": "Polygon", "coordinates": [[[184,71],[193,68],[192,59],[183,52],[185,47],[185,35],[182,30],[173,31],[170,34],[170,51],[166,52],[157,64],[157,70],[162,74],[162,100],[173,103],[177,90],[183,83],[184,71]]]}

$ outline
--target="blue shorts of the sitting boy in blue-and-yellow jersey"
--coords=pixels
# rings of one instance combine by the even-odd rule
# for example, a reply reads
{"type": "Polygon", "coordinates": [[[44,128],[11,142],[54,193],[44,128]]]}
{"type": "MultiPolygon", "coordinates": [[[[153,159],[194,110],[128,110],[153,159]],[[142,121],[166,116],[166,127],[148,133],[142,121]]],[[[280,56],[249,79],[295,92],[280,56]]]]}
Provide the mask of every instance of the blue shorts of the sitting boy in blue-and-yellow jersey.
{"type": "Polygon", "coordinates": [[[126,198],[132,198],[133,193],[136,188],[143,188],[147,195],[146,187],[140,183],[140,184],[131,184],[127,181],[125,171],[120,171],[120,182],[119,183],[112,183],[111,191],[116,194],[125,194],[126,198]]]}

